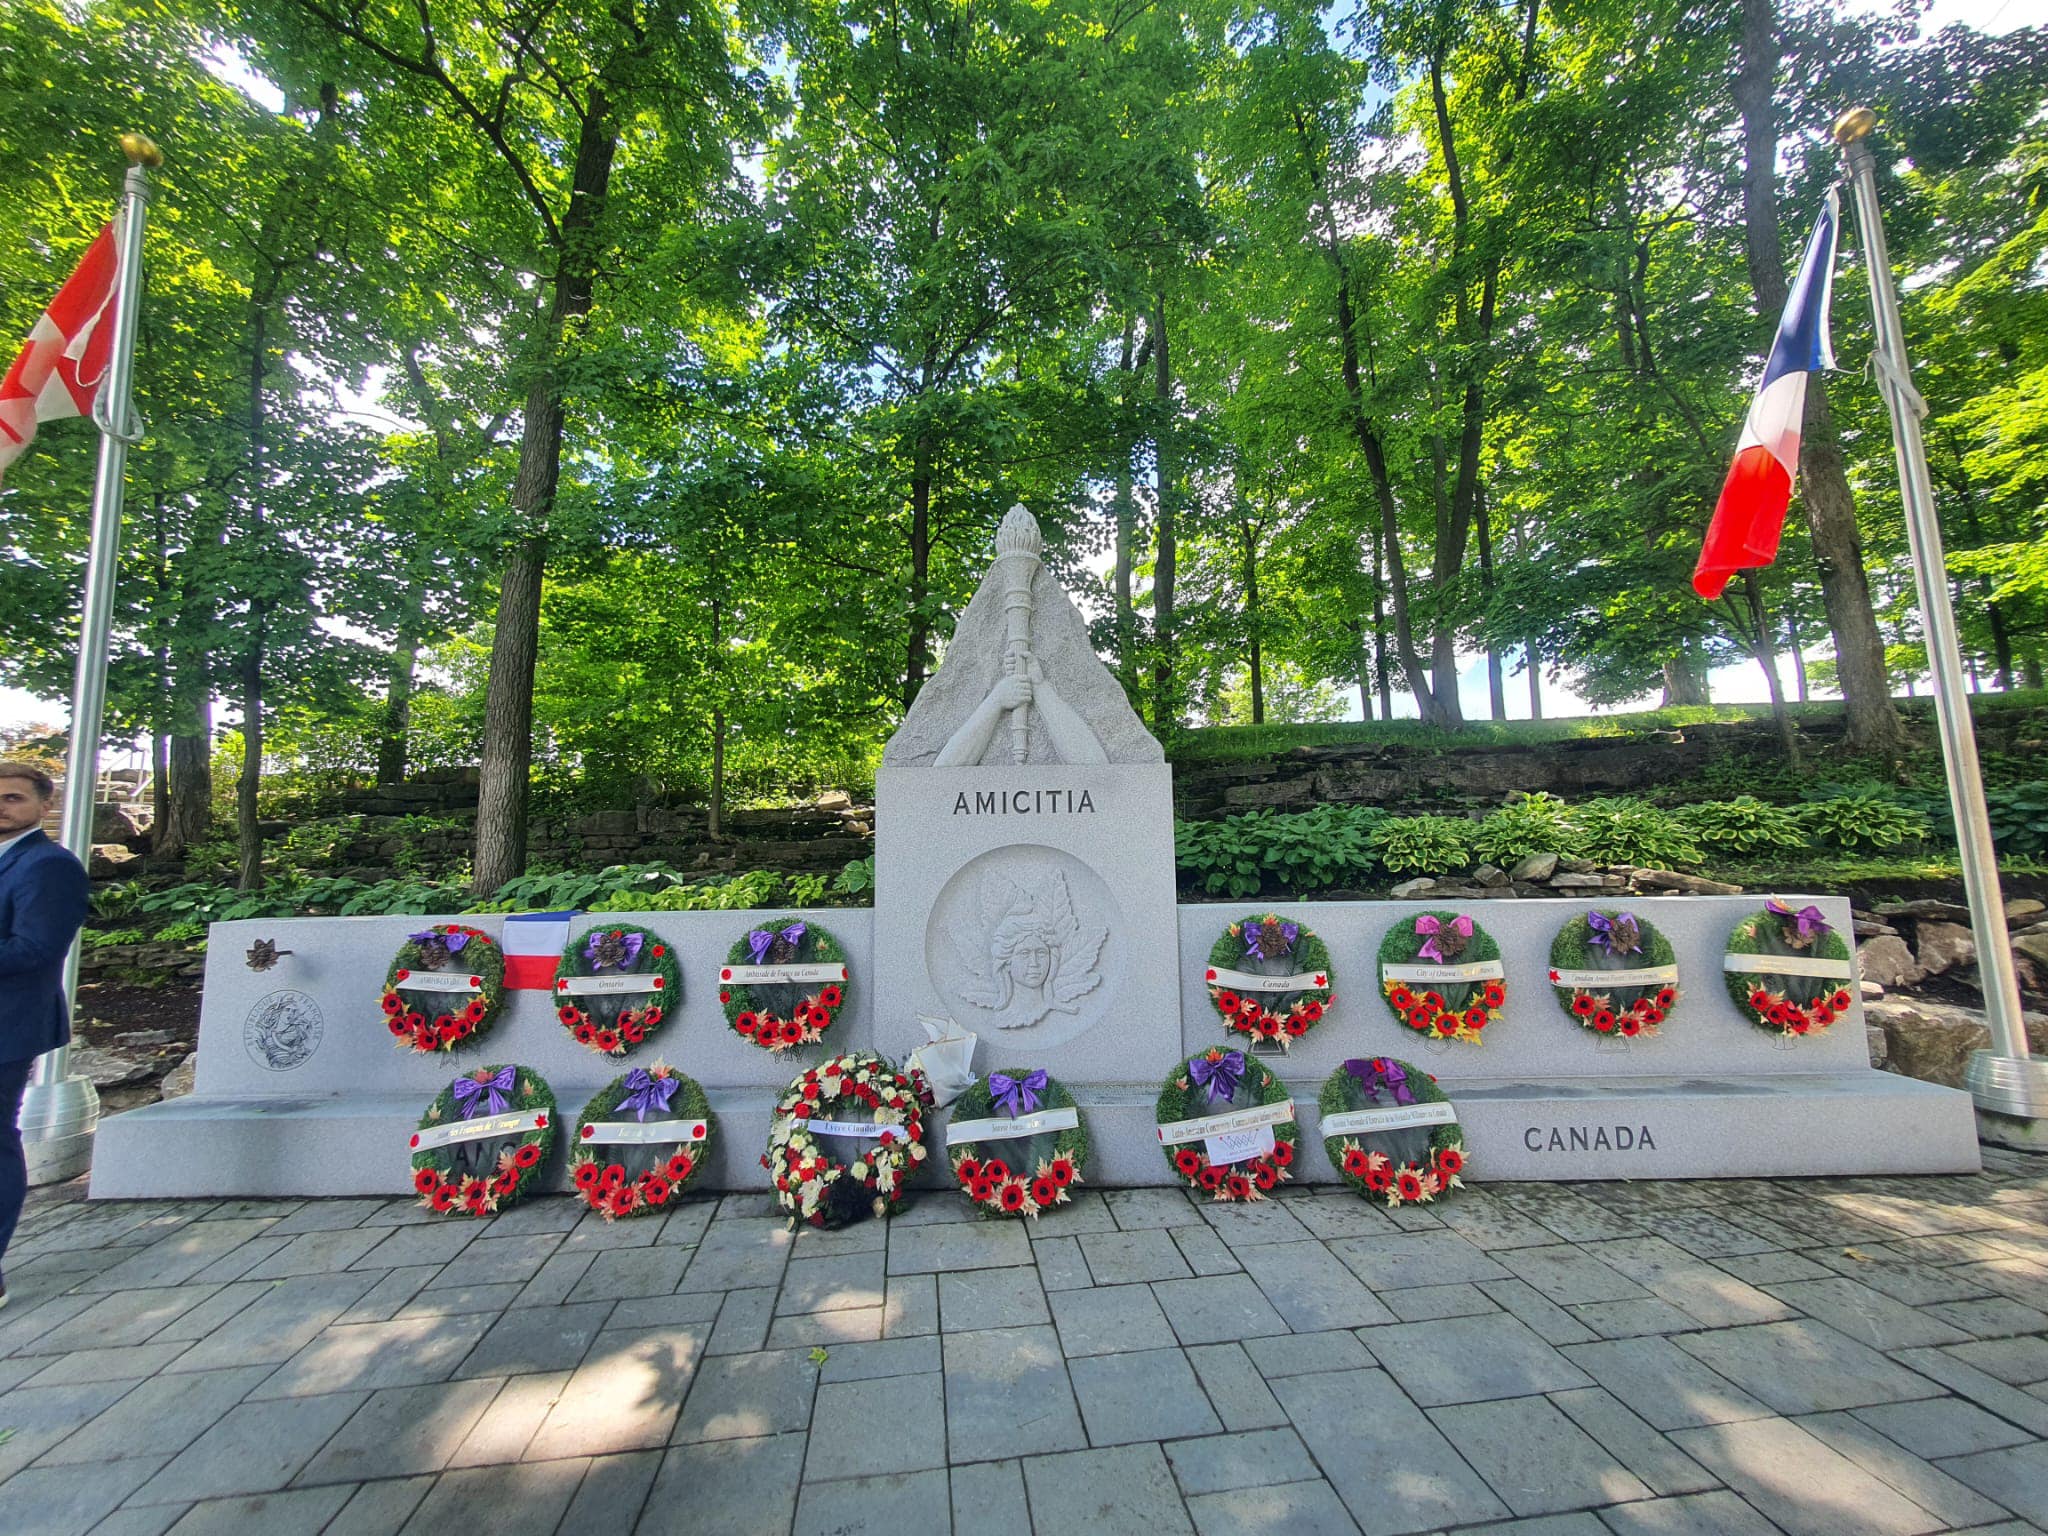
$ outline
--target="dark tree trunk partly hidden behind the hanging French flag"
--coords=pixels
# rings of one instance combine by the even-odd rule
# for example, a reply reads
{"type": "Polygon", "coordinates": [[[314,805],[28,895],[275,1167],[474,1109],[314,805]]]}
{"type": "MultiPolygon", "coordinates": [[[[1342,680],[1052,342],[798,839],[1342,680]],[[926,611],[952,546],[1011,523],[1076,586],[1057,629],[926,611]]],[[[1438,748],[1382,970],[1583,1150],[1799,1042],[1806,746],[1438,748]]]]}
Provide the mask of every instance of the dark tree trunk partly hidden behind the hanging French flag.
{"type": "MultiPolygon", "coordinates": [[[[1769,319],[1784,311],[1784,248],[1778,238],[1778,23],[1774,0],[1743,0],[1741,68],[1735,102],[1743,113],[1743,250],[1757,309],[1769,319]]],[[[1800,440],[1800,500],[1821,571],[1821,600],[1835,637],[1841,680],[1845,748],[1853,754],[1896,760],[1907,745],[1905,723],[1892,707],[1884,670],[1884,641],[1870,608],[1864,545],[1855,528],[1855,498],[1843,471],[1835,422],[1821,375],[1806,379],[1806,430],[1800,440]]]]}

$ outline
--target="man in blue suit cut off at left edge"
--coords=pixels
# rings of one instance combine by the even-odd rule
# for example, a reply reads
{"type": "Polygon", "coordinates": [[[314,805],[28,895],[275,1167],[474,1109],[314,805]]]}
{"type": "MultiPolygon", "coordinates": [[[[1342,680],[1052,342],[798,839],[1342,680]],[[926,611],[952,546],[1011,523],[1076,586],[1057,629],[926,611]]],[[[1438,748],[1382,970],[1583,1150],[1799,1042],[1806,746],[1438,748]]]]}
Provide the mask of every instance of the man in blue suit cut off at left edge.
{"type": "MultiPolygon", "coordinates": [[[[20,1098],[45,1051],[72,1038],[63,954],[86,922],[86,870],[43,836],[57,786],[27,762],[0,762],[0,1260],[29,1198],[20,1098]]],[[[0,1272],[0,1307],[6,1274],[0,1272]]]]}

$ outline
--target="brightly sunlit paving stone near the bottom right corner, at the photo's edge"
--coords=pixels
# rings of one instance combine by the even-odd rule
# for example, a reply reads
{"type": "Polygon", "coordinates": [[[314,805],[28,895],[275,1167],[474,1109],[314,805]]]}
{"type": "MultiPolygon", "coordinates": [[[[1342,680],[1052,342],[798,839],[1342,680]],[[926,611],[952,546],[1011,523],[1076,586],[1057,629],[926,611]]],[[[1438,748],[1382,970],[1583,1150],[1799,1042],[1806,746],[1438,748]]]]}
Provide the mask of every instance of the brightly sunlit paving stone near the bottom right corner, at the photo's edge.
{"type": "Polygon", "coordinates": [[[1743,1419],[1671,1438],[1788,1536],[1919,1536],[1944,1522],[1790,1419],[1743,1419]]]}

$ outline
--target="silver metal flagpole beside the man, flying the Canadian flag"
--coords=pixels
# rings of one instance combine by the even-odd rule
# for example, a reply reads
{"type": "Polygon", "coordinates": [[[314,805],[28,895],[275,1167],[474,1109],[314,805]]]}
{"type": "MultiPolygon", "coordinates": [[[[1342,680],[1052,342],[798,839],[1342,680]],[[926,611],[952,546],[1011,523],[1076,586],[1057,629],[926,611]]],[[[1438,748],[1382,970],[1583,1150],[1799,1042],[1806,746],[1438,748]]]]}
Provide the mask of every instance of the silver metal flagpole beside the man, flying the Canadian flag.
{"type": "MultiPolygon", "coordinates": [[[[141,420],[129,399],[135,383],[135,319],[141,301],[141,225],[150,207],[150,168],[162,152],[141,133],[123,133],[129,158],[121,193],[115,268],[115,340],[106,381],[92,403],[100,428],[100,465],[92,477],[92,547],[86,557],[86,602],[78,625],[78,674],[72,680],[72,752],[63,768],[63,846],[80,864],[92,860],[92,801],[98,786],[100,713],[106,707],[106,649],[115,612],[115,565],[121,555],[121,494],[127,451],[141,438],[141,420]]],[[[78,997],[78,942],[63,956],[63,999],[78,997]]],[[[88,1077],[72,1071],[72,1049],[59,1044],[37,1057],[20,1102],[20,1139],[29,1155],[29,1182],[55,1184],[92,1165],[92,1133],[100,1124],[100,1096],[88,1077]]]]}

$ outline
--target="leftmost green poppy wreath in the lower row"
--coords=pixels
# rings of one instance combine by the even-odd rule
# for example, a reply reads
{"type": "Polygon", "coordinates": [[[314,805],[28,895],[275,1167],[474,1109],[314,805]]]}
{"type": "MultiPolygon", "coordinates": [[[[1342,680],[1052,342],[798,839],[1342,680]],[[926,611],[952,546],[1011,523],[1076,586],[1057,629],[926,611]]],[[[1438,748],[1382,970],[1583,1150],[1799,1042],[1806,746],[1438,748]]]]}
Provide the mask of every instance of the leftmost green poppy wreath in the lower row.
{"type": "Polygon", "coordinates": [[[442,1087],[420,1116],[412,1190],[436,1214],[489,1217],[532,1190],[553,1145],[555,1092],[547,1079],[516,1063],[477,1067],[442,1087]],[[518,1116],[518,1124],[477,1139],[436,1139],[436,1130],[500,1116],[518,1116]]]}

